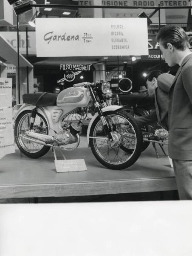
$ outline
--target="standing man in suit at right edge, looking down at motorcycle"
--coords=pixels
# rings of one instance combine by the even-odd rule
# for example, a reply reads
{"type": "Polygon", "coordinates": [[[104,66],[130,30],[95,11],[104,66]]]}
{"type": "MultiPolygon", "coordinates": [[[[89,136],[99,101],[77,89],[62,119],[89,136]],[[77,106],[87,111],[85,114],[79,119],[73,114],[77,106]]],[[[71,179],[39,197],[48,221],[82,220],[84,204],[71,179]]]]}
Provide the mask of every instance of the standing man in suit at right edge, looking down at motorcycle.
{"type": "Polygon", "coordinates": [[[169,67],[180,66],[169,90],[169,157],[180,199],[192,199],[192,53],[179,26],[163,27],[156,41],[169,67]]]}

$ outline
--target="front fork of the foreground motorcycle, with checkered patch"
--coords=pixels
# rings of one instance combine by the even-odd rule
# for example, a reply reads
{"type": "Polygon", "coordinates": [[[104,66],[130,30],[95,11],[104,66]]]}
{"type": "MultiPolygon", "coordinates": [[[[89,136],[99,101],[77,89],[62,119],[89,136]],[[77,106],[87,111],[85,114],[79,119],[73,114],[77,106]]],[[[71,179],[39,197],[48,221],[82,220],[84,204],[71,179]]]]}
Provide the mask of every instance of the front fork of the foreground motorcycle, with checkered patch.
{"type": "Polygon", "coordinates": [[[89,89],[89,92],[90,92],[90,96],[92,97],[93,99],[93,103],[94,103],[94,106],[97,110],[97,113],[99,114],[99,117],[101,119],[101,122],[102,122],[102,125],[103,125],[103,129],[104,129],[104,133],[105,135],[109,138],[109,141],[113,141],[113,137],[111,136],[111,129],[109,127],[109,125],[107,124],[107,121],[103,115],[103,112],[102,112],[102,109],[100,107],[100,104],[99,102],[97,101],[96,97],[95,97],[95,94],[93,93],[93,90],[90,86],[88,86],[88,89],[89,89]]]}

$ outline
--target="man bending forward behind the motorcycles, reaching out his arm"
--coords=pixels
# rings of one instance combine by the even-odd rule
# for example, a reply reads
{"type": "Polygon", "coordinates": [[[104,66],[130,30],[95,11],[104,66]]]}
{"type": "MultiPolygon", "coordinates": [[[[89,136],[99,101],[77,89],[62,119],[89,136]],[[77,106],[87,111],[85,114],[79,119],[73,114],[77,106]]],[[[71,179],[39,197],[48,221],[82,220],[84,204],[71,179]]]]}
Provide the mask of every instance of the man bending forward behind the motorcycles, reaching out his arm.
{"type": "Polygon", "coordinates": [[[171,74],[163,74],[161,70],[151,71],[147,75],[147,89],[149,96],[155,98],[155,110],[147,116],[136,117],[140,127],[158,122],[168,131],[168,95],[174,78],[171,74]]]}

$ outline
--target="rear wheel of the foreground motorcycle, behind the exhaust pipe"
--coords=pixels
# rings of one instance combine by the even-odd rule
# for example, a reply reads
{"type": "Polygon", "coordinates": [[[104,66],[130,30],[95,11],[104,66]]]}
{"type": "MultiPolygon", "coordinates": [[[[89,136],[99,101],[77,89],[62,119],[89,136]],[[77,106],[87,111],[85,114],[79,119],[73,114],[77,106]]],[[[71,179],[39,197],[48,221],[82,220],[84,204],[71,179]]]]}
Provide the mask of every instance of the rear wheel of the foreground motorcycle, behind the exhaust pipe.
{"type": "MultiPolygon", "coordinates": [[[[25,130],[29,130],[30,117],[31,117],[31,110],[23,111],[17,117],[15,126],[14,126],[15,142],[17,144],[17,147],[20,149],[20,151],[23,154],[25,154],[25,156],[30,158],[39,158],[45,155],[49,151],[50,147],[33,143],[19,137],[19,135],[22,134],[22,132],[24,132],[25,130]]],[[[37,113],[37,116],[35,118],[34,129],[36,129],[36,132],[38,133],[48,135],[47,121],[45,117],[42,116],[40,113],[37,113]]]]}

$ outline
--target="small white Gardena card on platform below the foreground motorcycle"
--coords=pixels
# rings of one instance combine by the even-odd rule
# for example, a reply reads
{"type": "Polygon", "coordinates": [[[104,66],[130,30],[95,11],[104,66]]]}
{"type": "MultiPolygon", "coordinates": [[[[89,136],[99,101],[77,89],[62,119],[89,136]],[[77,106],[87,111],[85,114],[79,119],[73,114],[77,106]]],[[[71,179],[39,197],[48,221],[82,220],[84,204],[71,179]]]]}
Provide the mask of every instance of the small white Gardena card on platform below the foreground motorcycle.
{"type": "Polygon", "coordinates": [[[56,172],[87,171],[84,159],[55,160],[56,172]]]}

